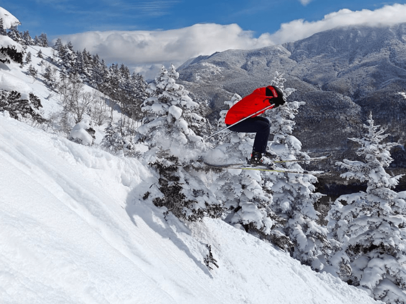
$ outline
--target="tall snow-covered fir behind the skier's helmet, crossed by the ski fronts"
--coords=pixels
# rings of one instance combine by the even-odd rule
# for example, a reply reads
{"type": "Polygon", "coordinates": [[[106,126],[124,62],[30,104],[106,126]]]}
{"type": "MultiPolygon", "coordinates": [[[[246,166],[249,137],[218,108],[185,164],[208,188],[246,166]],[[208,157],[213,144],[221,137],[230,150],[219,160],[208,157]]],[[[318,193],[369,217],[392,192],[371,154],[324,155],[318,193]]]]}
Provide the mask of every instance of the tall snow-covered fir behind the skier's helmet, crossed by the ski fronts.
{"type": "MultiPolygon", "coordinates": [[[[278,86],[284,92],[284,98],[287,98],[294,89],[284,89],[286,80],[282,76],[277,73],[271,85],[278,86]]],[[[292,135],[295,115],[303,104],[304,102],[298,101],[286,102],[285,105],[266,112],[271,125],[270,133],[275,134],[268,147],[279,159],[310,158],[301,151],[301,142],[292,135]]],[[[292,171],[302,170],[298,162],[283,164],[292,171]]],[[[326,265],[325,257],[329,253],[330,244],[327,229],[317,223],[320,214],[314,208],[315,203],[322,197],[320,193],[315,192],[314,184],[317,178],[310,174],[293,173],[274,173],[273,176],[272,210],[285,220],[283,229],[278,229],[280,235],[289,237],[293,243],[293,257],[310,265],[314,270],[322,270],[326,265]]]]}

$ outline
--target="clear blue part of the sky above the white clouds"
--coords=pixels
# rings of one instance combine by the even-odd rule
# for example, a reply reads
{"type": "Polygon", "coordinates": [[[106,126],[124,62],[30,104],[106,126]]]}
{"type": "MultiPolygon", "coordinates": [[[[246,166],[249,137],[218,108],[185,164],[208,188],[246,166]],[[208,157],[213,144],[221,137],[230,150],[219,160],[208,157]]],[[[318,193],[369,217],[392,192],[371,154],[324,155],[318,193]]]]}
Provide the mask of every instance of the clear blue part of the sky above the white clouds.
{"type": "Polygon", "coordinates": [[[50,38],[84,31],[177,29],[196,23],[236,23],[259,36],[281,23],[316,21],[350,9],[375,10],[399,1],[376,0],[0,0],[16,16],[21,31],[45,32],[50,38]]]}

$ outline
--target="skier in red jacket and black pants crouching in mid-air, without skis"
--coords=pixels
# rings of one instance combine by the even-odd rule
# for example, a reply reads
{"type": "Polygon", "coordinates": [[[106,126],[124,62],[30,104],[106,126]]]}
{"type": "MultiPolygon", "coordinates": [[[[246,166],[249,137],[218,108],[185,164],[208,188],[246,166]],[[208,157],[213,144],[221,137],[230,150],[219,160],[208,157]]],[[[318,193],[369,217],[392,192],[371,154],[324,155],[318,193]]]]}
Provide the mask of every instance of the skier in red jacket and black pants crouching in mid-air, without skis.
{"type": "MultiPolygon", "coordinates": [[[[227,126],[235,124],[228,128],[230,131],[256,133],[250,159],[250,163],[254,166],[264,164],[263,157],[272,158],[272,155],[266,151],[270,124],[266,118],[259,115],[265,112],[265,107],[269,105],[275,104],[275,107],[278,107],[284,103],[282,90],[276,86],[267,86],[254,90],[227,111],[225,124],[227,126]],[[261,111],[262,109],[264,110],[261,111]],[[253,115],[254,113],[256,114],[253,115]],[[245,119],[250,115],[253,116],[245,119]],[[241,122],[238,123],[239,121],[241,122]]],[[[272,161],[268,160],[266,163],[269,165],[272,161]]]]}

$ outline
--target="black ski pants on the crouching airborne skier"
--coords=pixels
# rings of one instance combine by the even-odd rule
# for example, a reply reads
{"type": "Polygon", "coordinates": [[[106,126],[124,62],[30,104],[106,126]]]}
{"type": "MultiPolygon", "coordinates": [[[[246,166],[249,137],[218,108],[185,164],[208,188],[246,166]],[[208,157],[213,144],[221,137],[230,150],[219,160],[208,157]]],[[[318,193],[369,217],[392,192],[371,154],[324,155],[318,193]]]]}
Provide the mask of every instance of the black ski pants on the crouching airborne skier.
{"type": "Polygon", "coordinates": [[[252,151],[260,152],[262,154],[266,152],[270,130],[270,124],[266,118],[258,116],[247,118],[241,123],[238,123],[228,129],[233,132],[256,133],[252,151]]]}

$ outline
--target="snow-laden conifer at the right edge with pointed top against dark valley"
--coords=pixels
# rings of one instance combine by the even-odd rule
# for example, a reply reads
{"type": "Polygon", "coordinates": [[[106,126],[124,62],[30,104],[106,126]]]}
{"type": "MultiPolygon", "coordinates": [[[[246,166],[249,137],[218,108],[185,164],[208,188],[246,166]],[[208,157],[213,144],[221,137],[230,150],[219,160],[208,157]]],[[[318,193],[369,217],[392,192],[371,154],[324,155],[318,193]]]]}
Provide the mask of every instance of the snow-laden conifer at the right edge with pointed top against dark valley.
{"type": "Polygon", "coordinates": [[[393,191],[402,175],[385,172],[393,161],[382,141],[389,135],[369,115],[356,154],[365,162],[338,162],[341,176],[366,182],[366,192],[342,195],[328,213],[328,228],[338,241],[331,263],[346,282],[366,290],[375,299],[406,303],[406,202],[393,191]]]}

